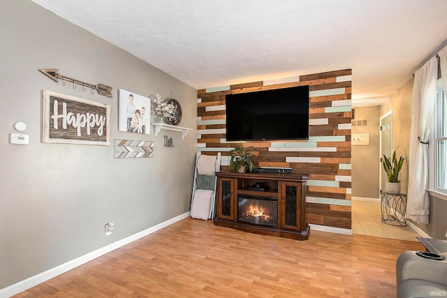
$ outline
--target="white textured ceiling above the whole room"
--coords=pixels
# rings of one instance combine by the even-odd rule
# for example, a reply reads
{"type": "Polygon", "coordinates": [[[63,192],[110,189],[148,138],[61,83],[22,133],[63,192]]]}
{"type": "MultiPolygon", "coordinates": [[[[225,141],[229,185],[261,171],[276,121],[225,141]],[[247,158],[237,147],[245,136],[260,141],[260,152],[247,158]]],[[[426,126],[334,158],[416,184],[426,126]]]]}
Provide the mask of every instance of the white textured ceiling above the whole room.
{"type": "Polygon", "coordinates": [[[203,89],[353,70],[381,104],[447,41],[446,0],[33,0],[203,89]]]}

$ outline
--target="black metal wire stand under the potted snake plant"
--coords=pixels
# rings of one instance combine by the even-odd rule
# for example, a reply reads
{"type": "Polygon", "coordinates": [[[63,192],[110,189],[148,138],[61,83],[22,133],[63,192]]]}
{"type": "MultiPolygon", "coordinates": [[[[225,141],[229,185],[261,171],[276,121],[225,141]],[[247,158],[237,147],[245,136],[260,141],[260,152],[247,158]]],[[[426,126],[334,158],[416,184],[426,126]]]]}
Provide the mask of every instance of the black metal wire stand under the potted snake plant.
{"type": "Polygon", "coordinates": [[[381,192],[382,222],[387,225],[406,226],[406,194],[381,192]]]}

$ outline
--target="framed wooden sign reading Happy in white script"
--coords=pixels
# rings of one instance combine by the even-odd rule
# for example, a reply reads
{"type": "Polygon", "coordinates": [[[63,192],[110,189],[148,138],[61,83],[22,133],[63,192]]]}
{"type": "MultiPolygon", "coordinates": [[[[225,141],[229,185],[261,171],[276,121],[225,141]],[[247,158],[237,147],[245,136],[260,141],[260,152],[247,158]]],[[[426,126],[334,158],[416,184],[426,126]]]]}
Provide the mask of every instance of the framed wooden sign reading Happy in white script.
{"type": "Polygon", "coordinates": [[[43,142],[110,145],[110,106],[43,90],[43,142]]]}

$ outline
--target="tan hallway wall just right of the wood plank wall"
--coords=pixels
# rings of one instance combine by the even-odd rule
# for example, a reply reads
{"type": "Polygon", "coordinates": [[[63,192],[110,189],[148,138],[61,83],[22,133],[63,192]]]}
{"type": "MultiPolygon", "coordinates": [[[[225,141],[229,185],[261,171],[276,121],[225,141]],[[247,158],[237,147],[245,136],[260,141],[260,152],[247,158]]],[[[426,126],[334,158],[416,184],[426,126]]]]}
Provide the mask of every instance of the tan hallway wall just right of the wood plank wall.
{"type": "Polygon", "coordinates": [[[379,199],[380,106],[355,110],[356,120],[368,120],[368,126],[353,126],[352,134],[369,134],[369,146],[351,147],[352,196],[379,199]]]}

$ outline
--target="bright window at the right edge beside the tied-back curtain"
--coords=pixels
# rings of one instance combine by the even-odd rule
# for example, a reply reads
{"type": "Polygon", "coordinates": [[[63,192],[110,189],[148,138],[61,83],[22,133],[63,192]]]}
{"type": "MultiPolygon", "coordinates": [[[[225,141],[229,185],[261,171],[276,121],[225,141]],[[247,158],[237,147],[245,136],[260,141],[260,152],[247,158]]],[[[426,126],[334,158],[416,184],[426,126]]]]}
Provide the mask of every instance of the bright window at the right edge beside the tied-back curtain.
{"type": "Polygon", "coordinates": [[[441,80],[438,83],[434,111],[434,125],[430,139],[430,164],[434,166],[430,186],[432,190],[447,194],[447,99],[441,80]]]}

